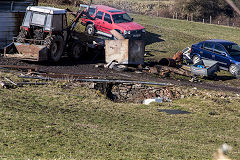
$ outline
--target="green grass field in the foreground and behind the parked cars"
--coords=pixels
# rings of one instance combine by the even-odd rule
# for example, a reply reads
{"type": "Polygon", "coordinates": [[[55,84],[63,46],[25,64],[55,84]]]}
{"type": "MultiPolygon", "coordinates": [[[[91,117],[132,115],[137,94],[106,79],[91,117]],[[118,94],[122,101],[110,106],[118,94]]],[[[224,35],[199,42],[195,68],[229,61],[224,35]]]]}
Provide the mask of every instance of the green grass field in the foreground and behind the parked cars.
{"type": "MultiPolygon", "coordinates": [[[[172,56],[210,38],[240,43],[238,28],[133,17],[148,31],[146,50],[154,55],[149,59],[172,56]]],[[[68,82],[0,89],[0,95],[0,159],[211,159],[223,143],[233,147],[231,158],[240,157],[237,99],[193,96],[150,106],[113,103],[68,82]]]]}

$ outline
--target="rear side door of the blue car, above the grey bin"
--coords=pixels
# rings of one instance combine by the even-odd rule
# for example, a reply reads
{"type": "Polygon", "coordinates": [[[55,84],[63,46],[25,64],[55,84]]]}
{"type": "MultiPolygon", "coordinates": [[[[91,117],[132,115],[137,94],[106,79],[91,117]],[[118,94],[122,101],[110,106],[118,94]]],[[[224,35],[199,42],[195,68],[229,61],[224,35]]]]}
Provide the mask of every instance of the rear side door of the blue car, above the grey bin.
{"type": "Polygon", "coordinates": [[[199,51],[199,54],[203,59],[214,60],[215,56],[213,55],[213,42],[204,42],[202,49],[199,51]]]}

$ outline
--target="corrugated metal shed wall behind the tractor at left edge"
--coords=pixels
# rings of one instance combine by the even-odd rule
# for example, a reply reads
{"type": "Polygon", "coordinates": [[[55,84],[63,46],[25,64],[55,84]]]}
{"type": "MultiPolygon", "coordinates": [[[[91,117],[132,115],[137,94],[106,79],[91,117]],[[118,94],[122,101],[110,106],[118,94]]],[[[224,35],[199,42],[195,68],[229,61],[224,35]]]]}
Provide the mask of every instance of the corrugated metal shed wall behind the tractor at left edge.
{"type": "Polygon", "coordinates": [[[38,0],[0,1],[0,49],[12,42],[19,33],[27,6],[37,5],[38,0]]]}

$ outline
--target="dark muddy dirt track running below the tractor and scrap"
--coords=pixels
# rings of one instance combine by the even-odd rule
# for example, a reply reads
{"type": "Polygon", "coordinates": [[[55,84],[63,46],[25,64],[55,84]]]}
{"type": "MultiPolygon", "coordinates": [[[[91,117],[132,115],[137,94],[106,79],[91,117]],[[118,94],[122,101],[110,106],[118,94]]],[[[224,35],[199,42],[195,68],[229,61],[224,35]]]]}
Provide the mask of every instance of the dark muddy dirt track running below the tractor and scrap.
{"type": "Polygon", "coordinates": [[[39,71],[46,73],[61,73],[61,74],[79,74],[97,77],[99,79],[120,79],[120,80],[138,80],[138,81],[150,81],[171,83],[178,86],[196,87],[217,91],[228,91],[239,93],[240,88],[233,84],[225,83],[222,81],[202,81],[202,82],[189,82],[189,79],[177,79],[171,77],[158,77],[148,72],[135,72],[135,71],[115,71],[112,69],[106,69],[103,67],[95,67],[97,61],[87,63],[86,61],[73,61],[69,58],[63,58],[58,63],[50,62],[28,62],[18,59],[10,59],[0,57],[0,65],[19,65],[19,66],[31,66],[38,67],[39,71]]]}

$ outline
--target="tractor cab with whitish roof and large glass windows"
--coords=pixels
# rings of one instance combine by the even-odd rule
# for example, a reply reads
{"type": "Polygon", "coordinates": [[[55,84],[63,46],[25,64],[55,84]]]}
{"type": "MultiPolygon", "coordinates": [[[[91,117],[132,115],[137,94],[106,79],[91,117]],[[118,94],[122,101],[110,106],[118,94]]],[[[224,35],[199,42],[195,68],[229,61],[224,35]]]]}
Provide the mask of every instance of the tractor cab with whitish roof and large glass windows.
{"type": "Polygon", "coordinates": [[[67,28],[67,11],[53,7],[29,6],[23,20],[21,38],[43,40],[50,34],[62,34],[67,28]]]}

